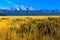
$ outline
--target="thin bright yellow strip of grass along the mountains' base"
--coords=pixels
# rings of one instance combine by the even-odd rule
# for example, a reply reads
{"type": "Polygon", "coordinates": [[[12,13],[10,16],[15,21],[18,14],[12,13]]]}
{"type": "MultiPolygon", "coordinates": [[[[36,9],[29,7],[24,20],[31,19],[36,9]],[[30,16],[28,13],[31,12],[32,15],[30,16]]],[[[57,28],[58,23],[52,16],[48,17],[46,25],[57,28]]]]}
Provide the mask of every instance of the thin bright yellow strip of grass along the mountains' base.
{"type": "Polygon", "coordinates": [[[44,19],[44,18],[48,18],[48,17],[60,17],[60,16],[0,16],[0,18],[10,18],[10,19],[13,19],[13,18],[26,18],[26,17],[30,17],[30,18],[38,18],[38,19],[44,19]]]}

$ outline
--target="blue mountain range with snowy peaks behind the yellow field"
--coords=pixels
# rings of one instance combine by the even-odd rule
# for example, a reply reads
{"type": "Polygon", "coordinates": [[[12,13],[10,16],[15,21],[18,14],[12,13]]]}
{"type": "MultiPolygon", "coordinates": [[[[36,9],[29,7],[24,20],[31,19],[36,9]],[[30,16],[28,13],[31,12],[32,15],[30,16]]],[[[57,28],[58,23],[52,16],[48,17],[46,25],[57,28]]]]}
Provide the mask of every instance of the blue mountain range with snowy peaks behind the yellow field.
{"type": "Polygon", "coordinates": [[[53,9],[40,9],[36,10],[32,7],[25,8],[24,6],[21,7],[9,7],[9,8],[0,8],[0,15],[60,15],[60,10],[53,9]]]}

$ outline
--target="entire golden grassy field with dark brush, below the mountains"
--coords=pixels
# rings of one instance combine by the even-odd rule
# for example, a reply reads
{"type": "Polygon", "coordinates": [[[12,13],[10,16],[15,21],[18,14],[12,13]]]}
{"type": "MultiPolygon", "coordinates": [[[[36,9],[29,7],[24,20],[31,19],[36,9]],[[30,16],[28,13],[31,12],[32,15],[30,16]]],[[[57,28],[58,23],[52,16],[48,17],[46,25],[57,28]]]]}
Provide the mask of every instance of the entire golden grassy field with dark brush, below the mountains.
{"type": "Polygon", "coordinates": [[[0,40],[60,40],[60,16],[0,16],[0,40]]]}

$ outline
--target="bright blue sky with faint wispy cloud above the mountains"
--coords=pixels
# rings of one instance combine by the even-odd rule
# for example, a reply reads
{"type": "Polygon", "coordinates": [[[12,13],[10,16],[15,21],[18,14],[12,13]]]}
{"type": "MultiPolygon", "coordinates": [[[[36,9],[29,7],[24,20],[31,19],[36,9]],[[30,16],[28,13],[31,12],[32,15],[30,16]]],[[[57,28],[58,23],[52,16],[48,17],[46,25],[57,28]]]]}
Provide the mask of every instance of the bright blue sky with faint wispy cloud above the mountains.
{"type": "Polygon", "coordinates": [[[0,8],[33,7],[35,9],[60,9],[60,0],[0,0],[0,8]]]}

